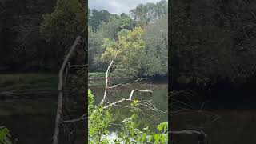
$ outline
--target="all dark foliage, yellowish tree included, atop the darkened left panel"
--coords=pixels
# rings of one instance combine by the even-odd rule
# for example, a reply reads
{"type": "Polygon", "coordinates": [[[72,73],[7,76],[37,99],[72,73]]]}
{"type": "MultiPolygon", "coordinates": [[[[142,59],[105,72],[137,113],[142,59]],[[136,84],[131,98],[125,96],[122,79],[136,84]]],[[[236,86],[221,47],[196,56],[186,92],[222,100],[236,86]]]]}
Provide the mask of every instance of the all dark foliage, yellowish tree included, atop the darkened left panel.
{"type": "Polygon", "coordinates": [[[8,0],[0,11],[1,72],[58,71],[65,48],[87,34],[85,0],[8,0]]]}

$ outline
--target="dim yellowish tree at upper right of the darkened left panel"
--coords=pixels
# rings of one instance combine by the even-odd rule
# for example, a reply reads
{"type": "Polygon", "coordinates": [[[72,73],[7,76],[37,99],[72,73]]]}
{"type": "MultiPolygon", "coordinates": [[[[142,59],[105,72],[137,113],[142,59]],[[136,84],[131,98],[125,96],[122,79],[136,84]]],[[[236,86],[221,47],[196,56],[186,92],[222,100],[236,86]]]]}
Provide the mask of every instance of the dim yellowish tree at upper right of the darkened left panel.
{"type": "Polygon", "coordinates": [[[40,32],[47,41],[68,46],[78,35],[86,35],[87,7],[84,0],[58,0],[51,14],[43,16],[40,32]]]}

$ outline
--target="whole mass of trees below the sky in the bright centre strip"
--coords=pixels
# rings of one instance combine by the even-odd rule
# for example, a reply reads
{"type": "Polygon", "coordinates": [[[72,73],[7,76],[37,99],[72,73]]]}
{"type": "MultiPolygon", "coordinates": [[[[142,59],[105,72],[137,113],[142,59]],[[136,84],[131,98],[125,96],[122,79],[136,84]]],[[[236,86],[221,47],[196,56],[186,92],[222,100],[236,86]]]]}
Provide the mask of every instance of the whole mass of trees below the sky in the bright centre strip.
{"type": "Polygon", "coordinates": [[[167,74],[167,2],[140,4],[130,14],[90,10],[90,72],[116,68],[135,76],[167,74]],[[100,24],[99,24],[100,23],[100,24]]]}

